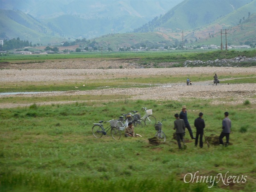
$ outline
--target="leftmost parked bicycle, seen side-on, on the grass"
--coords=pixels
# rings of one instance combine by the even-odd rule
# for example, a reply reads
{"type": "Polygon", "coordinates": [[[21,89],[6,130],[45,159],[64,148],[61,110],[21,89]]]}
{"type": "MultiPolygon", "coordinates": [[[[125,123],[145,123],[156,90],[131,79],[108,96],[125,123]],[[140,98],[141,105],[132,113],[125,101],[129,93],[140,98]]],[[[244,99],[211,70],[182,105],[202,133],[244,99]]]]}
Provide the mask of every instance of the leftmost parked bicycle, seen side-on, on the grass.
{"type": "Polygon", "coordinates": [[[111,129],[111,136],[114,140],[119,140],[121,137],[121,132],[119,128],[116,127],[116,120],[110,121],[99,121],[99,123],[93,123],[92,133],[96,138],[101,138],[102,135],[106,135],[108,130],[111,129]],[[104,128],[103,122],[110,122],[110,125],[107,128],[104,128]]]}

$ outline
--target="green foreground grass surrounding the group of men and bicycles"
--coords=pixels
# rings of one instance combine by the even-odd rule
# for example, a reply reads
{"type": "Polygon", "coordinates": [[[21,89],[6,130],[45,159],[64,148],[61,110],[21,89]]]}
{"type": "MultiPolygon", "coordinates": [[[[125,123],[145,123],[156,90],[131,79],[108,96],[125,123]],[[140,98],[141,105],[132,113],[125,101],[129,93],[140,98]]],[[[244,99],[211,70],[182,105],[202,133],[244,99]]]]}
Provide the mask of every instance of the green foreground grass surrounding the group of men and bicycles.
{"type": "MultiPolygon", "coordinates": [[[[36,104],[0,110],[1,191],[253,191],[255,188],[255,105],[211,105],[210,100],[129,100],[86,102],[70,105],[36,104]],[[205,135],[219,135],[224,112],[230,112],[232,134],[227,148],[211,145],[195,148],[186,130],[186,151],[179,151],[174,114],[186,105],[192,130],[198,113],[204,113],[205,135]],[[153,109],[163,122],[166,143],[154,146],[154,126],[137,128],[143,137],[119,141],[109,135],[93,137],[99,120],[118,118],[142,107],[153,109]],[[246,114],[244,111],[246,110],[246,114]],[[247,131],[241,127],[247,124],[247,131]],[[246,162],[246,164],[244,163],[246,162]],[[246,183],[184,183],[187,173],[215,176],[247,175],[246,183]],[[208,186],[212,186],[208,188],[208,186]]],[[[140,111],[143,114],[143,111],[140,111]]],[[[107,124],[104,124],[107,126],[107,124]]],[[[225,140],[224,140],[225,141],[225,140]]]]}

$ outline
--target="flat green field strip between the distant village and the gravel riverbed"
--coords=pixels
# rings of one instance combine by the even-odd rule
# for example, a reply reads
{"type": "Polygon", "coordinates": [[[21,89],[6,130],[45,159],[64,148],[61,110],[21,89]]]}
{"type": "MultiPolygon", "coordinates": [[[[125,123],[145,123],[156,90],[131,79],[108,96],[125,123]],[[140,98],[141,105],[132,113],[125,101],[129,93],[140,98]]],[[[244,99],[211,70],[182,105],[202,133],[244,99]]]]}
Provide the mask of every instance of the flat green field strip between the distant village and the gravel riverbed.
{"type": "Polygon", "coordinates": [[[161,63],[161,62],[180,62],[183,63],[186,60],[201,60],[208,61],[223,58],[235,58],[238,55],[244,55],[247,58],[256,56],[256,49],[249,50],[228,50],[228,51],[212,51],[212,50],[172,50],[172,51],[159,51],[159,52],[86,52],[86,53],[70,53],[70,54],[47,54],[47,55],[13,55],[13,54],[1,54],[0,64],[3,62],[9,63],[43,63],[46,61],[65,61],[66,59],[126,59],[127,61],[134,59],[137,62],[143,63],[161,63]]]}

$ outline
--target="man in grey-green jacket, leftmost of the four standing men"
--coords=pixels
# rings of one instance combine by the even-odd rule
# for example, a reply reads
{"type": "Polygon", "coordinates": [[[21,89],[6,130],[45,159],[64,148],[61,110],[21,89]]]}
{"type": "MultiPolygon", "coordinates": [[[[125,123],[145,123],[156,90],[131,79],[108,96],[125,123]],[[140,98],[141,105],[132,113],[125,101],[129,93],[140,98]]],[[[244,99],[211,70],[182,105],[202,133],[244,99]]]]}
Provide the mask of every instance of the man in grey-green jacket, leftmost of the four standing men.
{"type": "Polygon", "coordinates": [[[183,142],[183,148],[186,148],[184,139],[183,139],[183,134],[185,133],[185,123],[183,119],[179,118],[179,114],[176,113],[175,115],[176,120],[174,121],[174,130],[176,129],[176,136],[177,136],[177,142],[179,149],[181,149],[181,144],[180,140],[183,142]]]}

